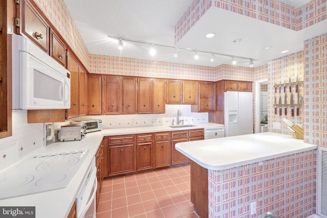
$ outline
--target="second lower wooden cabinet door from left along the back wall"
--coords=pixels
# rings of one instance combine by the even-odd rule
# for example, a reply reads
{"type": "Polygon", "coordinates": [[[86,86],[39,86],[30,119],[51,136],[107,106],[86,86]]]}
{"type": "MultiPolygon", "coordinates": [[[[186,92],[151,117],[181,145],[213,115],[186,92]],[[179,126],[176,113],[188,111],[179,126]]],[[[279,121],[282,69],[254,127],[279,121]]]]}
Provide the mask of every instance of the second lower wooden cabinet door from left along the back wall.
{"type": "Polygon", "coordinates": [[[137,171],[153,168],[152,162],[152,141],[137,143],[137,171]]]}

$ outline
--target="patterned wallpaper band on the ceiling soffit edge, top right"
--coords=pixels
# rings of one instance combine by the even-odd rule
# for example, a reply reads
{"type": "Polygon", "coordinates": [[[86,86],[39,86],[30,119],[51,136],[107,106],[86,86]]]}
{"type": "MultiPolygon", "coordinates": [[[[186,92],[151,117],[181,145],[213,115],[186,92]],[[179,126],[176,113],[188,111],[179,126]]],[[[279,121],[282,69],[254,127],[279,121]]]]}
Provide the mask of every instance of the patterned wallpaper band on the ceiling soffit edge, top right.
{"type": "Polygon", "coordinates": [[[313,0],[298,9],[276,0],[197,0],[175,25],[175,43],[213,6],[295,31],[327,19],[327,1],[321,0],[313,0]]]}

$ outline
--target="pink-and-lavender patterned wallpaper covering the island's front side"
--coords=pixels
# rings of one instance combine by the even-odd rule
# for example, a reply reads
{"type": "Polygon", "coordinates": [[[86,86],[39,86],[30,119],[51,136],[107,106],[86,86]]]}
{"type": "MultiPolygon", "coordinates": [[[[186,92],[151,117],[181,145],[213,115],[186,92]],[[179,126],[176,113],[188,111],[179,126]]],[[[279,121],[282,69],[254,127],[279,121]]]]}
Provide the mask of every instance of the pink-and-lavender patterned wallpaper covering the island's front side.
{"type": "Polygon", "coordinates": [[[209,217],[281,217],[315,214],[316,151],[223,171],[208,170],[209,217]],[[250,203],[256,214],[250,215],[250,203]]]}

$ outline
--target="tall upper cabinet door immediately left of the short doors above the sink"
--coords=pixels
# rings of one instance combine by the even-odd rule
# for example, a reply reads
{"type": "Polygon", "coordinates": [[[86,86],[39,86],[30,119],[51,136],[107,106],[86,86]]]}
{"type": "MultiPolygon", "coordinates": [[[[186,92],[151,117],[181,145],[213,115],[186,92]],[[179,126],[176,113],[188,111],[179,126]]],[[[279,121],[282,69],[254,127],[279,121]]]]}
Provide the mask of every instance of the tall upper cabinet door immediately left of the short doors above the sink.
{"type": "Polygon", "coordinates": [[[166,82],[152,80],[152,113],[166,112],[166,82]]]}

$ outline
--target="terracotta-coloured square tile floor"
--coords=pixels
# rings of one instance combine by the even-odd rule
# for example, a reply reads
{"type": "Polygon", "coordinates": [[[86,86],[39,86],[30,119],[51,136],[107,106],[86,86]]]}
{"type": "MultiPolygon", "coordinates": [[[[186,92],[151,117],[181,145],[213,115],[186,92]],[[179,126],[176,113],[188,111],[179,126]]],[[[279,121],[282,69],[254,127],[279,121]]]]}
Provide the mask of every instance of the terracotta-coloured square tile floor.
{"type": "Polygon", "coordinates": [[[190,165],[104,180],[97,218],[198,218],[190,193],[190,165]]]}

